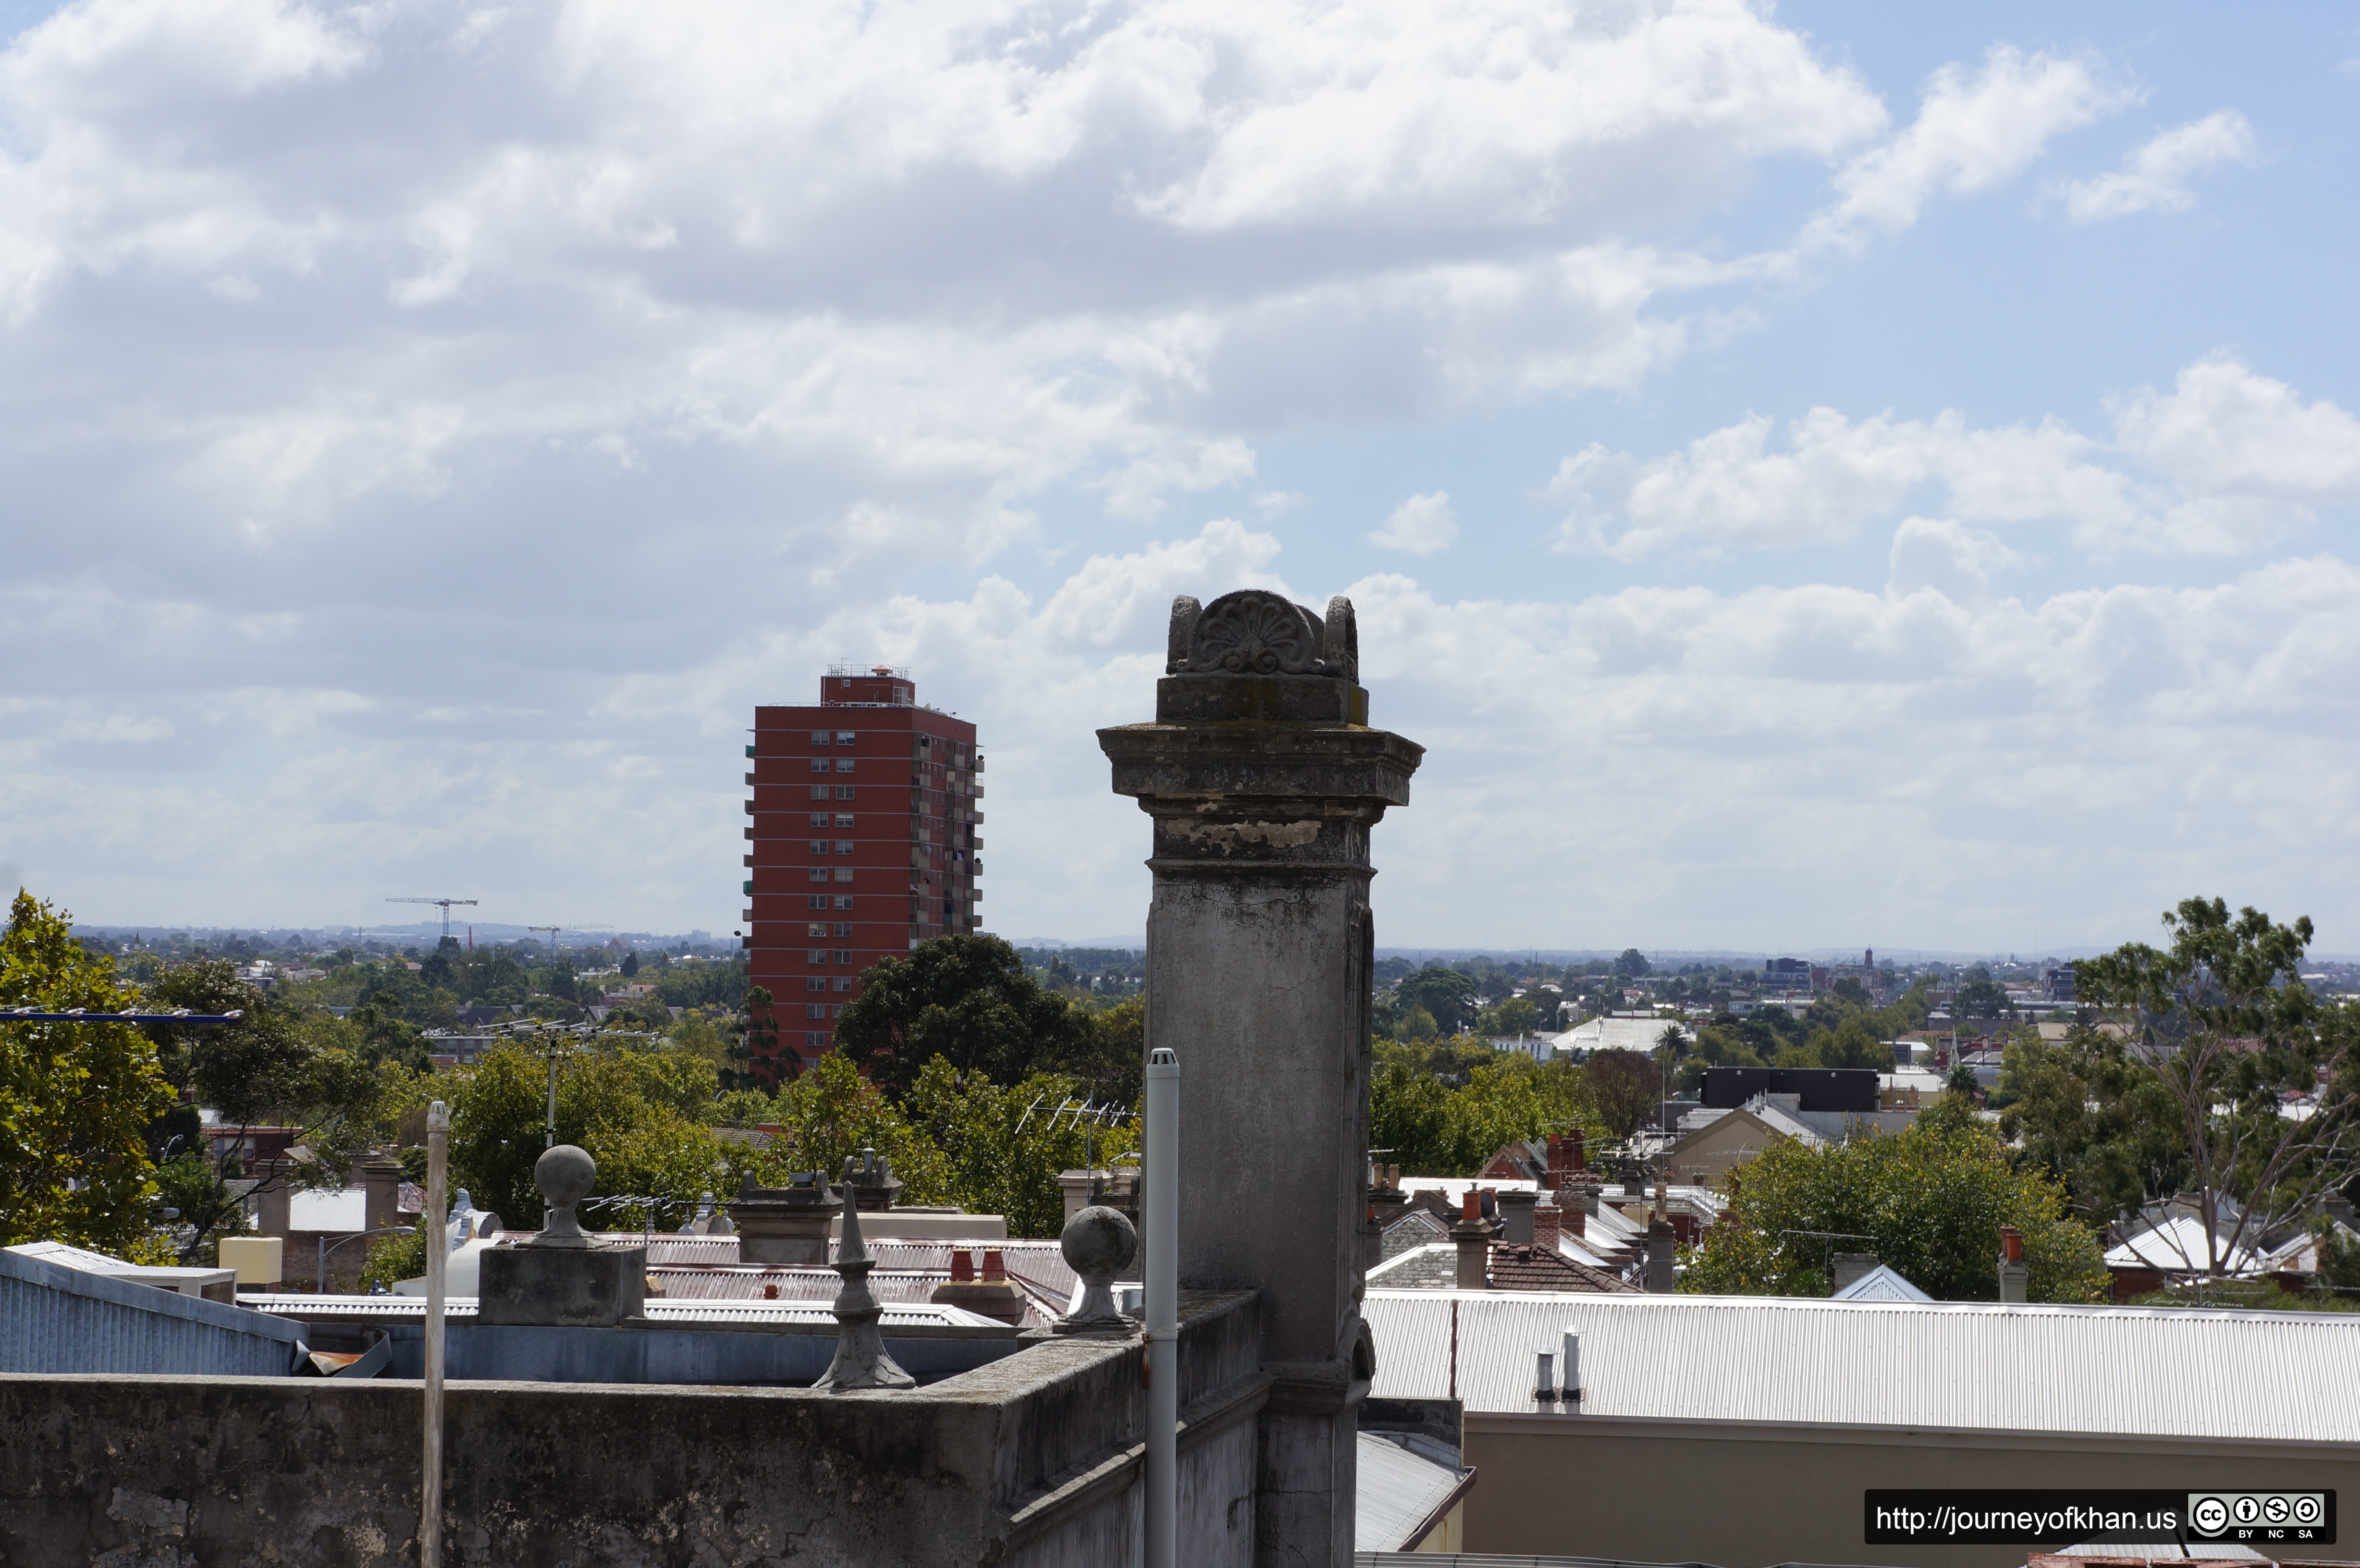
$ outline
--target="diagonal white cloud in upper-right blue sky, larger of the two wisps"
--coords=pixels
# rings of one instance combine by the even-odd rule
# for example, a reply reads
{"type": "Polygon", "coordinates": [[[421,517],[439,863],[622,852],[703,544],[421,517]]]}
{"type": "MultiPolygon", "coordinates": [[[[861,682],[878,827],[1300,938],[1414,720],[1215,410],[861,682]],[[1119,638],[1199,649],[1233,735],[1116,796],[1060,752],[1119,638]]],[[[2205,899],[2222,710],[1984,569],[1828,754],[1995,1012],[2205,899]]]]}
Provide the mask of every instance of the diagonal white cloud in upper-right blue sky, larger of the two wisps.
{"type": "Polygon", "coordinates": [[[2131,102],[2086,59],[1994,47],[1982,71],[1942,66],[1926,83],[1919,118],[1853,158],[1836,203],[1805,234],[1857,246],[1869,229],[1905,229],[1933,196],[1966,196],[2025,172],[2053,137],[2131,102]]]}

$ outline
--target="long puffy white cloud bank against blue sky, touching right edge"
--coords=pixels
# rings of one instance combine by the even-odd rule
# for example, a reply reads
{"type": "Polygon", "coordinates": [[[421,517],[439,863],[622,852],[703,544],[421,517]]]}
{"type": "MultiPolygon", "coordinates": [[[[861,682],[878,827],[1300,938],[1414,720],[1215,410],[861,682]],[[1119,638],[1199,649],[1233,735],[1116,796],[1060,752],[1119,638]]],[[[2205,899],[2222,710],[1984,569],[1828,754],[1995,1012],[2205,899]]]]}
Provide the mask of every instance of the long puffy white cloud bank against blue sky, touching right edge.
{"type": "Polygon", "coordinates": [[[1930,486],[1971,522],[2065,522],[2091,553],[2233,555],[2360,498],[2360,420],[2228,357],[2188,366],[2169,394],[2122,399],[2112,444],[2060,420],[1975,430],[1956,411],[1812,409],[1784,451],[1772,430],[1749,416],[1654,458],[1598,444],[1565,458],[1548,482],[1560,548],[1640,560],[1843,543],[1930,486]]]}

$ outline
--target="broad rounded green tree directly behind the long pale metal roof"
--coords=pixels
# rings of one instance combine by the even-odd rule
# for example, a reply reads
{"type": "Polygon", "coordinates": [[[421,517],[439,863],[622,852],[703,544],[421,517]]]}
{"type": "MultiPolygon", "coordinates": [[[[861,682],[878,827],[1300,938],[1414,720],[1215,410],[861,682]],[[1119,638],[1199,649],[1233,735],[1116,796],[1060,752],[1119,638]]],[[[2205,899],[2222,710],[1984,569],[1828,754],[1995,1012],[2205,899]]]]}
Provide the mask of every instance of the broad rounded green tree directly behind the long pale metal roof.
{"type": "Polygon", "coordinates": [[[2098,1237],[2067,1216],[2058,1183],[2015,1169],[1949,1096],[1895,1136],[1772,1143],[1730,1171],[1728,1190],[1680,1289],[1824,1296],[1834,1252],[1874,1252],[1938,1301],[1994,1301],[2001,1226],[2025,1235],[2032,1301],[2096,1301],[2107,1280],[2098,1237]]]}

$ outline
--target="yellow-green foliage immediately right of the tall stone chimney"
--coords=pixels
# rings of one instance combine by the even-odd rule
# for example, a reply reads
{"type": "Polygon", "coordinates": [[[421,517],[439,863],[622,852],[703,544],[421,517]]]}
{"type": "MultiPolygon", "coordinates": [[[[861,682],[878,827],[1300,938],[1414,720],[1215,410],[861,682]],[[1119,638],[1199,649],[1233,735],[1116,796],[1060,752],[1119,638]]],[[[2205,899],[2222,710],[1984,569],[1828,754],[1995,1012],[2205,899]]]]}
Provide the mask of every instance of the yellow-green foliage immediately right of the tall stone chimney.
{"type": "Polygon", "coordinates": [[[1503,1143],[1595,1126],[1588,1077],[1565,1063],[1484,1051],[1463,1086],[1423,1070],[1418,1053],[1381,1048],[1369,1093],[1369,1143],[1416,1176],[1473,1176],[1503,1143]]]}

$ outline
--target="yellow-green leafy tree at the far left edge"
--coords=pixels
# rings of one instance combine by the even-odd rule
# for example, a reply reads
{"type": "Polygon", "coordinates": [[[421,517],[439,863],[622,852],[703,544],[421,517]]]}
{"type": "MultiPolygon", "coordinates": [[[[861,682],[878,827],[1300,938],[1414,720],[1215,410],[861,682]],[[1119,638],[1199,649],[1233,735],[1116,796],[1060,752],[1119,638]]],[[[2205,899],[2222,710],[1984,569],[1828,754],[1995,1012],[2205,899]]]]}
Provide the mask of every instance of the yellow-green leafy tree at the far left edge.
{"type": "MultiPolygon", "coordinates": [[[[19,890],[0,933],[0,1006],[120,1011],[113,961],[19,890]]],[[[153,1226],[146,1129],[172,1108],[156,1046],[130,1025],[0,1023],[0,1244],[109,1252],[153,1226]],[[71,1185],[68,1185],[71,1183],[71,1185]]]]}

